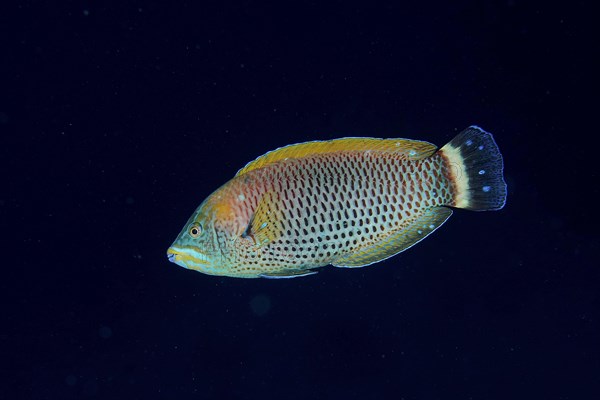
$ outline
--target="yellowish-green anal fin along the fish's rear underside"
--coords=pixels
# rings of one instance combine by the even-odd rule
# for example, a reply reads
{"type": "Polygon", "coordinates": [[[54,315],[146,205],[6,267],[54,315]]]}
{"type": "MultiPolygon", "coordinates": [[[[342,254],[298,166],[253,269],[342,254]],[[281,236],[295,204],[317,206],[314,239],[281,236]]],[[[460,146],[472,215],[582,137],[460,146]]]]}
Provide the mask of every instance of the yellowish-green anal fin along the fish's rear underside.
{"type": "Polygon", "coordinates": [[[450,208],[431,208],[415,218],[406,228],[358,252],[340,257],[332,262],[332,265],[338,268],[358,268],[385,260],[426,238],[446,222],[451,215],[450,208]]]}

